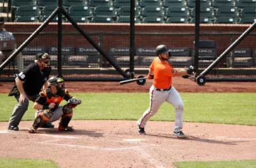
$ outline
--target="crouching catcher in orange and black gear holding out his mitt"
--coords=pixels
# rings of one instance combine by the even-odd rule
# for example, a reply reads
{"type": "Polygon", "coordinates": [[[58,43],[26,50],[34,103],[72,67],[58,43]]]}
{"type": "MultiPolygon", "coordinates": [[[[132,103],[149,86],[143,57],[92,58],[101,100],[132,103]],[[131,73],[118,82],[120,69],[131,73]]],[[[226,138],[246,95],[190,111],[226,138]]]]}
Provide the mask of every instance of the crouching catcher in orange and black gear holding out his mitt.
{"type": "Polygon", "coordinates": [[[69,95],[68,90],[65,89],[64,80],[60,77],[49,78],[48,84],[49,87],[41,91],[35,100],[36,119],[28,132],[35,133],[41,125],[60,118],[60,131],[74,131],[68,124],[73,116],[73,108],[81,104],[81,100],[69,95]],[[63,99],[67,100],[67,104],[59,106],[63,99]]]}

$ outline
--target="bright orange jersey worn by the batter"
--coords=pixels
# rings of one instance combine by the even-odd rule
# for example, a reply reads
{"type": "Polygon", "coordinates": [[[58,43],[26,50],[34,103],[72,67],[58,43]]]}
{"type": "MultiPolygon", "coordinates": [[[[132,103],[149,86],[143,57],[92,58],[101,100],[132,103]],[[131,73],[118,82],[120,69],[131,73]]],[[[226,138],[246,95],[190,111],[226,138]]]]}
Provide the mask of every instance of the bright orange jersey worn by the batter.
{"type": "Polygon", "coordinates": [[[159,89],[167,89],[172,86],[172,77],[175,77],[177,70],[167,61],[154,58],[150,65],[150,70],[154,71],[153,85],[159,89]]]}

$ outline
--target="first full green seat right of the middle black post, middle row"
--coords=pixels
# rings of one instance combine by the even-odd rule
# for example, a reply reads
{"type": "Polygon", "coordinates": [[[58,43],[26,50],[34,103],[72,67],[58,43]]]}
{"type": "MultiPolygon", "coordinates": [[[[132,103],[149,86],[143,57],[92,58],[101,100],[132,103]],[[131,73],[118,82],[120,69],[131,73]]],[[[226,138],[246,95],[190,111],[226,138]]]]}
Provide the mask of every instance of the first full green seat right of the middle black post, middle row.
{"type": "Polygon", "coordinates": [[[143,17],[147,17],[147,16],[163,17],[164,15],[165,15],[165,12],[162,7],[146,6],[146,7],[143,7],[141,10],[141,16],[143,17]]]}

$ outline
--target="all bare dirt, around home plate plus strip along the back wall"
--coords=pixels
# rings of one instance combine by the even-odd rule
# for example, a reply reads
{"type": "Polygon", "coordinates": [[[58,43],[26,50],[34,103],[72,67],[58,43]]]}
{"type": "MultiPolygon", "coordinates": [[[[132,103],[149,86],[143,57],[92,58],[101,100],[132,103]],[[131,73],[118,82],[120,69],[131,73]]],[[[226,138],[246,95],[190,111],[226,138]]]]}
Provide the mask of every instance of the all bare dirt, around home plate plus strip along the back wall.
{"type": "MultiPolygon", "coordinates": [[[[0,82],[7,93],[13,82],[0,82]]],[[[136,83],[66,82],[70,92],[145,92],[136,83]]],[[[255,82],[209,82],[198,86],[190,79],[175,79],[180,92],[256,92],[255,82]]],[[[173,122],[149,121],[147,135],[138,135],[135,121],[71,120],[74,132],[39,129],[29,134],[31,121],[20,131],[7,131],[0,122],[0,157],[52,159],[61,167],[173,167],[177,161],[229,161],[256,158],[256,127],[246,125],[184,123],[187,139],[172,135],[173,122]]],[[[54,122],[58,125],[58,122],[54,122]]]]}

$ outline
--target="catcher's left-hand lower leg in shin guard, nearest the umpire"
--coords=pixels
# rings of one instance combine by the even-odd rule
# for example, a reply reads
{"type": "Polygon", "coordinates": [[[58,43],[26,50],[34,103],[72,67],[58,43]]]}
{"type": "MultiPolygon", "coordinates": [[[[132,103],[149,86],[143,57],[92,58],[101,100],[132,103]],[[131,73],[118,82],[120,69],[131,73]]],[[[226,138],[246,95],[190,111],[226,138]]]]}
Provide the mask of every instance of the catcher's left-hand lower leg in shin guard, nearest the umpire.
{"type": "Polygon", "coordinates": [[[38,113],[36,116],[36,119],[34,120],[34,123],[31,125],[31,127],[28,129],[29,133],[35,133],[35,131],[41,127],[43,124],[45,124],[47,121],[51,119],[51,112],[49,110],[43,110],[38,113]]]}

